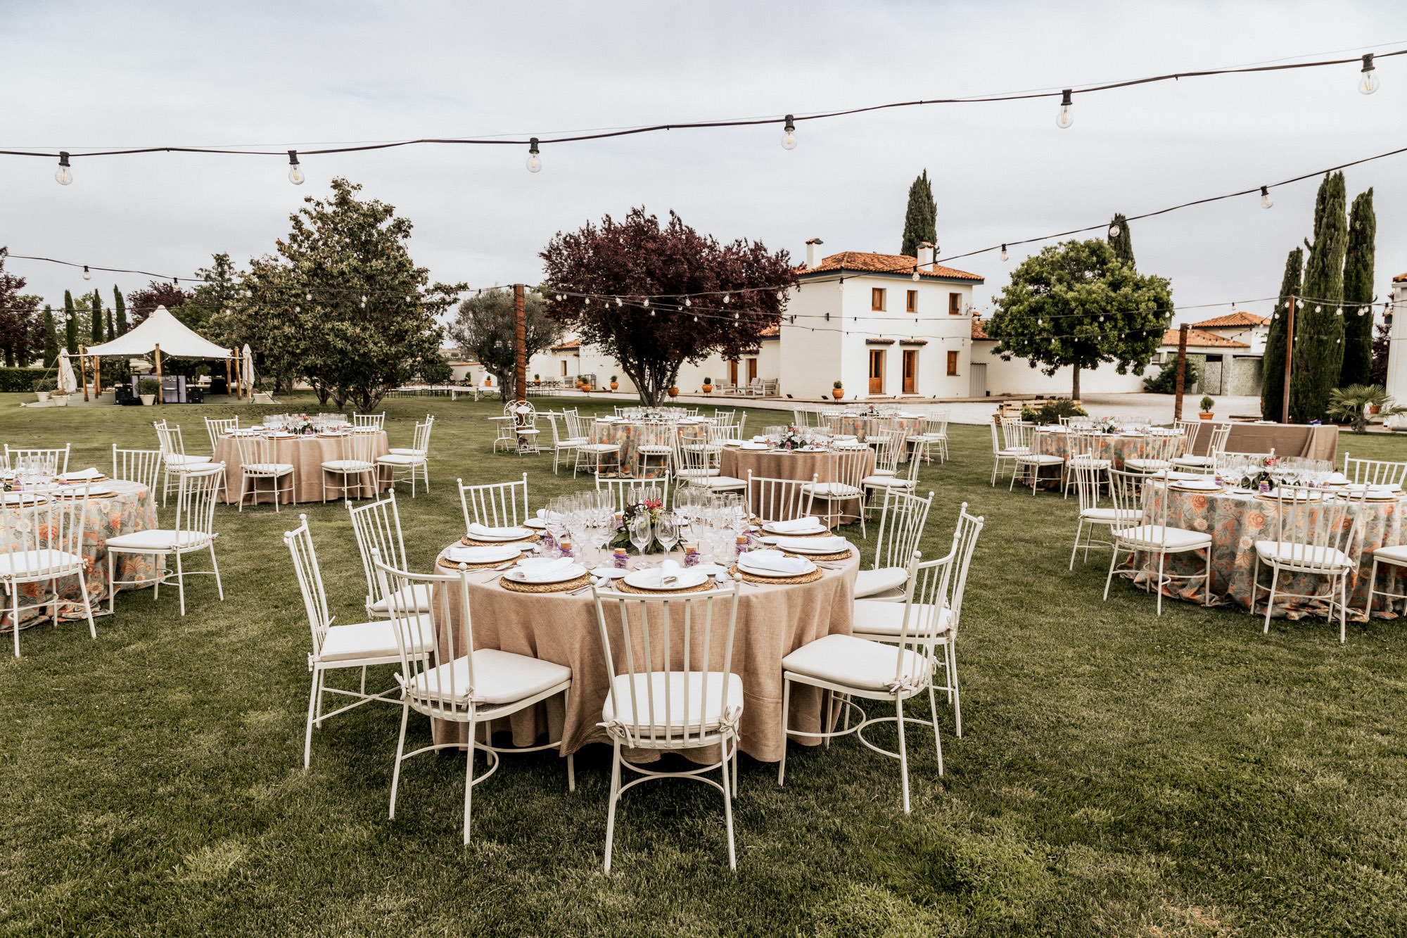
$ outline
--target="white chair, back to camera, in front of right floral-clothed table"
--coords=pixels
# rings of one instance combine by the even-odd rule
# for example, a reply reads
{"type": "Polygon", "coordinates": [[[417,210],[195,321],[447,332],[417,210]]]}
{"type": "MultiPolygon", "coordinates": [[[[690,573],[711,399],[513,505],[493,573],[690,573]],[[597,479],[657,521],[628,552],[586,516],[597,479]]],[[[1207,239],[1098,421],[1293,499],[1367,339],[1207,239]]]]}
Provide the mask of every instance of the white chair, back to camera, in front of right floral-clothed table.
{"type": "Polygon", "coordinates": [[[1272,501],[1276,506],[1275,538],[1255,542],[1251,614],[1255,615],[1256,599],[1266,593],[1262,631],[1269,634],[1276,596],[1325,600],[1331,623],[1338,607],[1338,641],[1346,641],[1348,575],[1358,568],[1351,548],[1362,517],[1362,496],[1351,500],[1327,494],[1324,489],[1282,484],[1272,501]],[[1269,586],[1261,584],[1262,563],[1271,568],[1269,586]],[[1328,580],[1328,592],[1287,593],[1280,589],[1282,573],[1321,576],[1328,580]]]}

